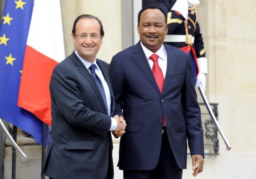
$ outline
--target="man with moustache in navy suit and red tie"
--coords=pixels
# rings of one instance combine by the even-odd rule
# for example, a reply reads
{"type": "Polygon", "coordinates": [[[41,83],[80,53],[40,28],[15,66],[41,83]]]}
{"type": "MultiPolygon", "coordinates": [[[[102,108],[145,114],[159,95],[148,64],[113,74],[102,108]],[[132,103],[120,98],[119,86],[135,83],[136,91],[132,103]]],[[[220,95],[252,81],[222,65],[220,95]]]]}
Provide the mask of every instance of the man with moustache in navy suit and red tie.
{"type": "Polygon", "coordinates": [[[190,56],[163,43],[167,30],[164,11],[144,7],[138,13],[140,41],[110,63],[115,113],[127,124],[118,162],[125,179],[181,178],[186,141],[193,175],[203,168],[203,131],[190,56]]]}

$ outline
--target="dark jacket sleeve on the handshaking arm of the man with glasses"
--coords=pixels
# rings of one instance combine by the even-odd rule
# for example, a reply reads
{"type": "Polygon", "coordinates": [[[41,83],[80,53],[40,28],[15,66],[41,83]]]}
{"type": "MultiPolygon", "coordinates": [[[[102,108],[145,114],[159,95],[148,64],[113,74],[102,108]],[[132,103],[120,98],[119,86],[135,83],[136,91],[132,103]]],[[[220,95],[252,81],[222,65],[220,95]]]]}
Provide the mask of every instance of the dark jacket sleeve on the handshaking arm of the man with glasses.
{"type": "MultiPolygon", "coordinates": [[[[56,107],[54,111],[59,111],[72,125],[106,135],[111,125],[110,117],[83,104],[79,82],[82,81],[77,79],[70,68],[62,65],[54,68],[50,80],[51,100],[55,103],[52,107],[56,107]]],[[[93,102],[97,99],[87,100],[93,102]]]]}

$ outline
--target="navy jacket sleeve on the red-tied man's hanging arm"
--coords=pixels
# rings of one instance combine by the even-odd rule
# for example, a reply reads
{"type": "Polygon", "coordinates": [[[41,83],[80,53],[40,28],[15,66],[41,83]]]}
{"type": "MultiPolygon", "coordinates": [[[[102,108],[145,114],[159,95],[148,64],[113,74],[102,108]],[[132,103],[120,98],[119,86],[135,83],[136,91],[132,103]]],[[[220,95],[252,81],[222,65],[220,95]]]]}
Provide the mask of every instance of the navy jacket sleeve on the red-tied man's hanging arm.
{"type": "Polygon", "coordinates": [[[200,108],[193,85],[191,59],[189,59],[189,55],[187,55],[187,57],[186,74],[182,89],[182,105],[186,123],[187,140],[190,154],[201,154],[203,156],[203,130],[200,108]]]}

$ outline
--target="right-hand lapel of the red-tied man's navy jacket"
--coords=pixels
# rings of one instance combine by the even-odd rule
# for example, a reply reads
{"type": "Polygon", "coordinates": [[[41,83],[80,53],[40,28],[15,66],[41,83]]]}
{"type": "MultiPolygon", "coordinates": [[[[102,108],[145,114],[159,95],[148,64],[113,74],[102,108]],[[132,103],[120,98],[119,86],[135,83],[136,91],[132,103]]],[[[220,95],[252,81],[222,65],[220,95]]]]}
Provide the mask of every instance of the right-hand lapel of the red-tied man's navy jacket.
{"type": "Polygon", "coordinates": [[[171,49],[168,45],[164,43],[166,53],[167,53],[167,66],[166,66],[166,74],[164,77],[162,94],[164,94],[165,89],[170,82],[171,76],[174,72],[174,68],[177,62],[177,56],[174,54],[175,49],[171,49]]]}

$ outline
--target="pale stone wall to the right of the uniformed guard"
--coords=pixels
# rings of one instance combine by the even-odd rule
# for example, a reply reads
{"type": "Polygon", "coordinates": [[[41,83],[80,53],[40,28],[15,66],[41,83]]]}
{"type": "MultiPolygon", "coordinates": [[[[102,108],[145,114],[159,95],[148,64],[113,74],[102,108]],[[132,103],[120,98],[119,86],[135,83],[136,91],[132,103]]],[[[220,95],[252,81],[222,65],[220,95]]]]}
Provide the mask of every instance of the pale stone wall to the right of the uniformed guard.
{"type": "MultiPolygon", "coordinates": [[[[198,178],[254,178],[256,174],[256,14],[254,0],[200,0],[198,21],[208,58],[206,94],[217,102],[219,124],[232,149],[205,158],[198,178]]],[[[191,162],[184,178],[192,178],[191,162]],[[189,177],[190,176],[190,177],[189,177]]]]}

